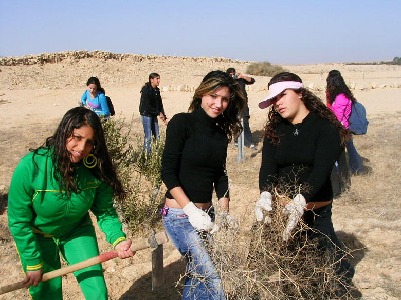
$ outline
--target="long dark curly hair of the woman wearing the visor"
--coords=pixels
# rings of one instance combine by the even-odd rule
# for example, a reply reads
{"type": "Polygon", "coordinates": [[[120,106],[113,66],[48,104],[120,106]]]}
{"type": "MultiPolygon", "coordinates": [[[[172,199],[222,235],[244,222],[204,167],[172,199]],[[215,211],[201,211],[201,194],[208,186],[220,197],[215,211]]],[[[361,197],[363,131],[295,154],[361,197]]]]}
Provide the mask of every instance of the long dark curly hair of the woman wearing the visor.
{"type": "MultiPolygon", "coordinates": [[[[274,83],[282,81],[297,81],[302,83],[302,79],[298,75],[289,72],[283,72],[271,78],[268,87],[274,83]]],[[[349,139],[348,131],[344,126],[341,125],[333,111],[325,106],[321,99],[311,91],[305,88],[293,89],[293,91],[302,95],[301,100],[311,113],[318,115],[322,119],[325,119],[336,126],[338,132],[340,133],[341,141],[343,144],[345,144],[345,141],[349,139]]],[[[267,116],[267,122],[265,124],[263,135],[270,140],[270,143],[276,146],[280,144],[280,136],[276,133],[275,128],[283,122],[284,118],[280,116],[274,105],[272,105],[267,116]]]]}

